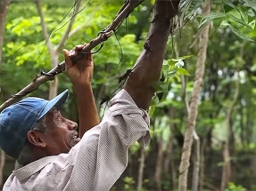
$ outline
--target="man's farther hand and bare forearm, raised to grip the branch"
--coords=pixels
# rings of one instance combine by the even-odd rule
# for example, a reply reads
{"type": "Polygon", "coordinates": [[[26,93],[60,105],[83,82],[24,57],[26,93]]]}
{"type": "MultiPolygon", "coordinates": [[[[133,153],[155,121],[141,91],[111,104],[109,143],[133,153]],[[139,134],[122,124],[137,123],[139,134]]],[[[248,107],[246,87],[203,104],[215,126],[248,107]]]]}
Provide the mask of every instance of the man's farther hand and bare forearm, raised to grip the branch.
{"type": "Polygon", "coordinates": [[[100,118],[95,105],[95,98],[91,85],[94,63],[91,52],[87,52],[80,60],[76,60],[78,52],[84,45],[75,46],[70,52],[63,50],[65,55],[66,73],[73,84],[73,91],[77,100],[79,115],[79,137],[100,123],[100,118]]]}

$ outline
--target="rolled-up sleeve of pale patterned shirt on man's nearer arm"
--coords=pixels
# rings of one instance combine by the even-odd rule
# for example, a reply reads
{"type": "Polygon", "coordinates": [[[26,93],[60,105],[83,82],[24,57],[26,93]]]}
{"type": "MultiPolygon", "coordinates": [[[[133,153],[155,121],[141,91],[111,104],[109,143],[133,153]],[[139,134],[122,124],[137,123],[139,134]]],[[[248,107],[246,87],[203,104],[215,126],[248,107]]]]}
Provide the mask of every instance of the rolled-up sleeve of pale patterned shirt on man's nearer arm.
{"type": "Polygon", "coordinates": [[[72,183],[78,190],[110,190],[128,166],[128,147],[136,141],[146,147],[149,140],[147,113],[121,90],[103,121],[74,147],[72,183]]]}

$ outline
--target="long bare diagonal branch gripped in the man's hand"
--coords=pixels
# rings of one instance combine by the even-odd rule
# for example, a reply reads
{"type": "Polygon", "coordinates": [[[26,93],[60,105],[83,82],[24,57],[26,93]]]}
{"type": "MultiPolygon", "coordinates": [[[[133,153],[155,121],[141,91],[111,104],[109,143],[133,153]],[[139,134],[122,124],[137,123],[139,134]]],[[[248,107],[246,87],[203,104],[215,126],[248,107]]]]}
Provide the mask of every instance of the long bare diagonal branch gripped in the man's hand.
{"type": "MultiPolygon", "coordinates": [[[[95,46],[103,43],[110,36],[112,36],[113,31],[117,30],[120,27],[120,24],[123,20],[125,20],[128,17],[130,12],[132,12],[139,4],[142,4],[144,1],[145,0],[129,0],[128,3],[125,2],[125,4],[127,5],[121,7],[121,11],[119,12],[119,14],[116,15],[115,19],[111,22],[111,24],[108,25],[107,28],[103,29],[103,32],[101,32],[99,36],[90,41],[90,43],[84,47],[83,52],[88,52],[92,50],[95,46]]],[[[81,54],[78,54],[78,57],[81,57],[81,54]]],[[[12,95],[10,99],[7,99],[0,106],[0,112],[3,111],[5,107],[9,107],[13,103],[19,101],[23,96],[37,90],[37,88],[41,84],[44,84],[49,80],[53,80],[55,75],[62,73],[64,70],[65,61],[62,61],[62,63],[58,64],[58,66],[50,70],[48,73],[45,73],[45,75],[37,75],[37,77],[30,84],[24,87],[20,92],[16,93],[15,95],[12,95]]]]}

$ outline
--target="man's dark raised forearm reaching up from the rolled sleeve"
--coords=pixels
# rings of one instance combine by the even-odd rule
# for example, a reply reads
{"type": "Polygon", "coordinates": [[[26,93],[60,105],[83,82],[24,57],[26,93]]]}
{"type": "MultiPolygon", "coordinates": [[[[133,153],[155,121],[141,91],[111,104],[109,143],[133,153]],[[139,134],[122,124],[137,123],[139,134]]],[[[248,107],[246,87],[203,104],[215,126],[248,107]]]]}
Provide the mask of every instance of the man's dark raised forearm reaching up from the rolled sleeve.
{"type": "Polygon", "coordinates": [[[154,17],[136,65],[128,77],[124,89],[136,102],[137,107],[148,109],[158,83],[171,27],[171,18],[178,14],[179,0],[156,0],[154,17]]]}

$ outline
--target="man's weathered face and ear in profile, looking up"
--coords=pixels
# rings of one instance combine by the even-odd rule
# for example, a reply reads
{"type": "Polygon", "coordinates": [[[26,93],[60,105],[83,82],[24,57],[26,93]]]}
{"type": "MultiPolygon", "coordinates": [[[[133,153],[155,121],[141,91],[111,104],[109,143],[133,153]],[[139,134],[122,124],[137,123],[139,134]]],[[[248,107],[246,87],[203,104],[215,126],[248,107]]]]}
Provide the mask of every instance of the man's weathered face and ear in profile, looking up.
{"type": "Polygon", "coordinates": [[[53,108],[45,115],[45,143],[51,155],[68,153],[78,141],[78,124],[62,117],[60,111],[53,108]]]}

